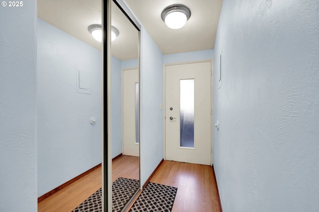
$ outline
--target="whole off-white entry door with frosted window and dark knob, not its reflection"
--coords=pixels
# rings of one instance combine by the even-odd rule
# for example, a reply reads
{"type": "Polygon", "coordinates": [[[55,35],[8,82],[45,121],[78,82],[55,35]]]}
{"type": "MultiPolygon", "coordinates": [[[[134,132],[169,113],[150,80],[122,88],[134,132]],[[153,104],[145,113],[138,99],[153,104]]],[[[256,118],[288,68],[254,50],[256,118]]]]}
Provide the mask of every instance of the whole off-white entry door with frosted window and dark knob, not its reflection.
{"type": "Polygon", "coordinates": [[[211,62],[165,67],[166,160],[210,165],[211,62]]]}

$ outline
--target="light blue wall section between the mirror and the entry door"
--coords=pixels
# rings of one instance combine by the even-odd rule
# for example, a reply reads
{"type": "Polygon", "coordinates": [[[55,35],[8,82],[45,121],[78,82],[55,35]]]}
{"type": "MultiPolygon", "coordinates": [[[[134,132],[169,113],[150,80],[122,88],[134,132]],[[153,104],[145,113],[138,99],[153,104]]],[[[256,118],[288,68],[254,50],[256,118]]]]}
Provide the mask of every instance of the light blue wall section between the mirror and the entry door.
{"type": "Polygon", "coordinates": [[[141,184],[163,159],[163,54],[142,30],[141,64],[141,184]]]}

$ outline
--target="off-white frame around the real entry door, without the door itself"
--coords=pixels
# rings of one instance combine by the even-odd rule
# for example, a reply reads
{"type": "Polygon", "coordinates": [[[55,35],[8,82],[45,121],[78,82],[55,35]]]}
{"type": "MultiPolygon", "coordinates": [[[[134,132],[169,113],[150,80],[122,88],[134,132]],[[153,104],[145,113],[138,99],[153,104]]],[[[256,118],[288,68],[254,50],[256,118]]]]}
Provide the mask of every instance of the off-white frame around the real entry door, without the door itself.
{"type": "Polygon", "coordinates": [[[203,62],[210,62],[211,63],[211,77],[210,77],[210,92],[211,92],[211,116],[210,116],[210,147],[211,147],[211,152],[210,152],[210,165],[213,165],[213,129],[212,127],[213,125],[213,67],[214,67],[214,60],[196,60],[196,61],[186,61],[186,62],[179,62],[179,63],[165,63],[163,65],[163,158],[164,160],[166,160],[166,121],[165,121],[165,117],[166,117],[166,74],[165,74],[165,70],[166,70],[166,66],[172,66],[172,65],[184,65],[184,64],[193,64],[193,63],[203,63],[203,62]]]}

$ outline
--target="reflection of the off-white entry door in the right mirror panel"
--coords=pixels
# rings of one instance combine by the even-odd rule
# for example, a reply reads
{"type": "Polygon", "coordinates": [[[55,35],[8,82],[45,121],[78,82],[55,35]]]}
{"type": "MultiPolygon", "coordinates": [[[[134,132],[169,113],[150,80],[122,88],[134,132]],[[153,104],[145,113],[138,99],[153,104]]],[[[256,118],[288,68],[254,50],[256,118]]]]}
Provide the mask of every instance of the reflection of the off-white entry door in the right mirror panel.
{"type": "Polygon", "coordinates": [[[139,156],[139,70],[123,71],[123,154],[139,156]]]}

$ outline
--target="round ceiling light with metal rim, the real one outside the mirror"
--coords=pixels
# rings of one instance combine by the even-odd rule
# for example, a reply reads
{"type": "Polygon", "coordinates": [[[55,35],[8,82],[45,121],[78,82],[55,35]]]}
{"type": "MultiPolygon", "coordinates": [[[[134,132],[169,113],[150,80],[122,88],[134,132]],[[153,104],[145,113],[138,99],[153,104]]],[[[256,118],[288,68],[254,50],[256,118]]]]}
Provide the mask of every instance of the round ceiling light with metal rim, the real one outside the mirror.
{"type": "Polygon", "coordinates": [[[161,19],[171,29],[179,29],[190,17],[190,9],[183,4],[172,4],[161,12],[161,19]]]}

